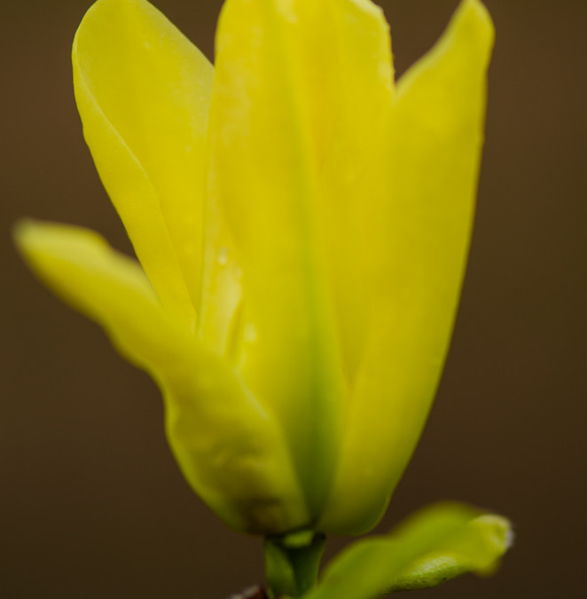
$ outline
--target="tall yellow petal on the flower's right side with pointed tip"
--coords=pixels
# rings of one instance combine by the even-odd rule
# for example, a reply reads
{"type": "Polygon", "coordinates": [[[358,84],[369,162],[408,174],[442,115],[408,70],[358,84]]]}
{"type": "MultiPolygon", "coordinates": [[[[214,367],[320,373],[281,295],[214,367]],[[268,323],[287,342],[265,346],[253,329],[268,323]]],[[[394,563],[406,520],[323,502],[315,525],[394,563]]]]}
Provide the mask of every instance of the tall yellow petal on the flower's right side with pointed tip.
{"type": "Polygon", "coordinates": [[[372,212],[372,334],[325,531],[375,524],[434,398],[473,225],[493,37],[482,4],[465,0],[398,83],[389,129],[393,193],[372,212]]]}

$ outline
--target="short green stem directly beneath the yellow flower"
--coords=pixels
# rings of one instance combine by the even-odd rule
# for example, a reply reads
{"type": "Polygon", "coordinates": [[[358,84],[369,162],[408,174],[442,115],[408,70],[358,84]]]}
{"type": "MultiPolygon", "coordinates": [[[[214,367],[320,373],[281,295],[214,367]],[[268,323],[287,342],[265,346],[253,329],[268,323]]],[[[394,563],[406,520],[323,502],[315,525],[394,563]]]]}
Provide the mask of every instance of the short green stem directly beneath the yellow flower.
{"type": "Polygon", "coordinates": [[[265,538],[265,579],[271,599],[301,597],[317,582],[325,535],[311,531],[265,538]]]}

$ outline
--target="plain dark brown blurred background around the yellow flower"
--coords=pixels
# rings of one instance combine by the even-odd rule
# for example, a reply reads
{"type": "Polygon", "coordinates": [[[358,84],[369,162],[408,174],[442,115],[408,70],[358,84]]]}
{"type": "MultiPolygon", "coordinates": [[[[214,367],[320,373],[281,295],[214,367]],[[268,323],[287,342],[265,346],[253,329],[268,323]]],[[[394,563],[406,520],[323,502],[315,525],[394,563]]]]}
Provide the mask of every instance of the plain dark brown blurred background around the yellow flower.
{"type": "MultiPolygon", "coordinates": [[[[213,55],[219,0],[157,0],[213,55]]],[[[402,73],[456,0],[385,0],[402,73]]],[[[487,0],[497,27],[473,247],[450,358],[380,531],[459,499],[510,516],[497,577],[411,596],[583,597],[584,35],[580,0],[487,0]]],[[[224,599],[261,543],[192,494],[159,392],[12,248],[21,216],[129,242],[82,139],[69,63],[89,0],[0,2],[0,597],[224,599]]],[[[339,541],[333,541],[333,547],[339,541]]]]}

